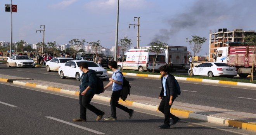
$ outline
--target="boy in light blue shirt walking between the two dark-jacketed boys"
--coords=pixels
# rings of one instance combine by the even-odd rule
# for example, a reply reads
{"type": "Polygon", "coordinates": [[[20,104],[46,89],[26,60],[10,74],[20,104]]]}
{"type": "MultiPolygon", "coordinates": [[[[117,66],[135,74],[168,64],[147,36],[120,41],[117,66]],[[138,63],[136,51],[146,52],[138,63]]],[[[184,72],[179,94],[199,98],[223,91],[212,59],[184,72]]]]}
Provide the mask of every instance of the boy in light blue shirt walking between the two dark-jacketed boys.
{"type": "Polygon", "coordinates": [[[109,83],[104,87],[104,90],[106,90],[109,86],[112,85],[112,95],[110,99],[111,116],[108,118],[104,118],[104,120],[116,120],[116,107],[127,112],[129,118],[131,118],[133,116],[134,110],[129,109],[118,103],[123,85],[123,75],[119,73],[121,71],[117,69],[116,61],[109,61],[108,66],[113,71],[113,74],[112,78],[109,78],[109,83]]]}

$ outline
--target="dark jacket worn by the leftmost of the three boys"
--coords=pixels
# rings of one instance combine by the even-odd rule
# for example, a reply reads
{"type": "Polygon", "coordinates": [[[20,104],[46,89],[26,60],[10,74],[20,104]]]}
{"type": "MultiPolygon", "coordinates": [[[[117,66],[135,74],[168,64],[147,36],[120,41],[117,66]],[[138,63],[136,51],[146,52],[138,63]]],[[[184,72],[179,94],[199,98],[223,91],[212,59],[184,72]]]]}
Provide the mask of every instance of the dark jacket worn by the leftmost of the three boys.
{"type": "Polygon", "coordinates": [[[83,92],[88,86],[90,86],[91,88],[86,92],[86,94],[95,94],[97,76],[94,70],[90,69],[86,73],[83,73],[80,77],[80,81],[80,92],[83,92]]]}

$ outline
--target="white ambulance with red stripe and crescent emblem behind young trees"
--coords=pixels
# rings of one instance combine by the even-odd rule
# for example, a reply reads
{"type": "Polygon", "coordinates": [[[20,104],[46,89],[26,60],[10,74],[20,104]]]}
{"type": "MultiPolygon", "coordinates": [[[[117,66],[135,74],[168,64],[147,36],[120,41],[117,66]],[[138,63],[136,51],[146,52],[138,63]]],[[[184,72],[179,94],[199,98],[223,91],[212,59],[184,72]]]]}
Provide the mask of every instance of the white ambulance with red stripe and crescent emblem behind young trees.
{"type": "Polygon", "coordinates": [[[130,49],[124,55],[124,62],[122,60],[118,61],[118,69],[130,69],[143,71],[153,70],[153,60],[156,59],[154,66],[154,71],[159,67],[166,65],[166,55],[165,52],[161,53],[156,58],[156,53],[149,52],[148,47],[140,47],[137,49],[130,49]]]}

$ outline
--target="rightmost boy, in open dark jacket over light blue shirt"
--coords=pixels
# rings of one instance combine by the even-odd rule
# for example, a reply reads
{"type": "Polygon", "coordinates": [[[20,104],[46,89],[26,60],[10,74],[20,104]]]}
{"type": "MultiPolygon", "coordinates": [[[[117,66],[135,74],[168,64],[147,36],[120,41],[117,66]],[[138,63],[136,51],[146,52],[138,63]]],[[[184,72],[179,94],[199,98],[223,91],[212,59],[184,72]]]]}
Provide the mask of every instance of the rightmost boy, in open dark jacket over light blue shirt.
{"type": "Polygon", "coordinates": [[[176,117],[170,112],[171,105],[173,105],[174,100],[178,97],[175,78],[169,73],[169,67],[167,65],[161,66],[158,70],[162,75],[162,89],[159,95],[159,99],[161,99],[161,102],[158,110],[164,114],[164,124],[158,127],[170,128],[171,125],[175,125],[177,122],[180,121],[180,118],[176,117]],[[172,119],[171,122],[170,118],[172,119]]]}

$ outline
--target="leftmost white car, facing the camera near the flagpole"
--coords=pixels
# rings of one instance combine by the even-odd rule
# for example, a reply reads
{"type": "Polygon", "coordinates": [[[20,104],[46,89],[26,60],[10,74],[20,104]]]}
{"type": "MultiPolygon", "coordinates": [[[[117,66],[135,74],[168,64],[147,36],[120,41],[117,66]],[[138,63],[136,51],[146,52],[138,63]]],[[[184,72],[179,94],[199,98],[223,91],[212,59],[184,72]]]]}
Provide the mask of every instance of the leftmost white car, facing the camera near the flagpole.
{"type": "Polygon", "coordinates": [[[28,56],[12,56],[7,60],[7,67],[36,67],[36,62],[28,56]]]}

